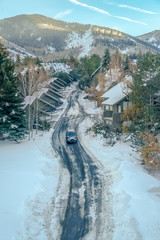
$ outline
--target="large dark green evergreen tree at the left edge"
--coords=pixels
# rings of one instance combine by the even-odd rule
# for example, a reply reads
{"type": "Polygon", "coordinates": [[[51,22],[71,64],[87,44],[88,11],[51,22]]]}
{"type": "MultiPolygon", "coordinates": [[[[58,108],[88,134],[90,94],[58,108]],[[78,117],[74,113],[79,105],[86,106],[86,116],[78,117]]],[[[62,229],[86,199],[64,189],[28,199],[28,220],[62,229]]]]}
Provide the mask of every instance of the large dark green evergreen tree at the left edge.
{"type": "Polygon", "coordinates": [[[26,133],[25,113],[18,91],[18,79],[14,63],[0,43],[0,136],[8,133],[11,140],[20,140],[26,133]]]}

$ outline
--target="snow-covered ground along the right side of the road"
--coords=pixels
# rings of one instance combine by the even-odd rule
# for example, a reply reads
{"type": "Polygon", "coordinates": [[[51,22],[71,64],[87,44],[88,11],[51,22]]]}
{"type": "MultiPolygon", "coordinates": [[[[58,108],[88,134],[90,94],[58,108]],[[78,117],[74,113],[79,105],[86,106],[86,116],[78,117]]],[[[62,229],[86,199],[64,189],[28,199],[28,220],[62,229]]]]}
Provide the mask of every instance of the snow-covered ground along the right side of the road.
{"type": "MultiPolygon", "coordinates": [[[[87,112],[95,108],[95,103],[84,100],[83,95],[79,101],[87,112]]],[[[79,136],[86,151],[95,157],[104,178],[103,223],[106,226],[102,239],[159,240],[160,180],[144,170],[139,154],[132,151],[129,143],[119,141],[107,146],[100,135],[86,133],[95,119],[92,113],[92,118],[81,123],[79,136]]]]}

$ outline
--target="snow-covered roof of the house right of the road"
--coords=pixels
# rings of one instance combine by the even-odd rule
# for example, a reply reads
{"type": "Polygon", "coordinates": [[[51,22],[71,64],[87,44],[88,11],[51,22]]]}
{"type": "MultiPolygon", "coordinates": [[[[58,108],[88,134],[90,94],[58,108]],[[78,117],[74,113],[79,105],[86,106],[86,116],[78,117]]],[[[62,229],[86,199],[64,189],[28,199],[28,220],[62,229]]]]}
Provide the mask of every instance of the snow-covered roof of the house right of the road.
{"type": "Polygon", "coordinates": [[[124,85],[123,83],[118,83],[102,95],[102,98],[107,98],[102,104],[114,105],[125,97],[124,85]]]}

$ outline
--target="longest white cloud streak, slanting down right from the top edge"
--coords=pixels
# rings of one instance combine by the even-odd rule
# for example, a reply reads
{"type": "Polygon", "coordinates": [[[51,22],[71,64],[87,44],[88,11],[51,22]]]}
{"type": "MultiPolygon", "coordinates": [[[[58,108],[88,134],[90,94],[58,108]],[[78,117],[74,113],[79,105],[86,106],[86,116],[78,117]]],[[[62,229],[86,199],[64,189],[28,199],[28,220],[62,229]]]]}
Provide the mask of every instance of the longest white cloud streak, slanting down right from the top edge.
{"type": "MultiPolygon", "coordinates": [[[[147,25],[146,23],[139,22],[137,20],[133,20],[133,19],[130,19],[130,18],[121,17],[121,16],[114,16],[114,15],[110,14],[109,12],[107,12],[105,10],[102,10],[102,9],[99,9],[99,8],[96,8],[96,7],[93,7],[93,6],[89,6],[89,5],[85,4],[85,3],[78,2],[77,0],[69,0],[69,1],[74,3],[74,4],[76,4],[76,5],[80,5],[80,6],[89,8],[89,9],[91,9],[93,11],[96,11],[96,12],[99,12],[99,13],[102,13],[102,14],[106,14],[106,15],[114,17],[114,18],[119,18],[119,19],[122,19],[122,20],[125,20],[125,21],[128,21],[128,22],[134,22],[134,23],[138,23],[138,24],[142,24],[142,25],[147,25]]],[[[125,5],[121,5],[121,6],[125,6],[125,5]]]]}

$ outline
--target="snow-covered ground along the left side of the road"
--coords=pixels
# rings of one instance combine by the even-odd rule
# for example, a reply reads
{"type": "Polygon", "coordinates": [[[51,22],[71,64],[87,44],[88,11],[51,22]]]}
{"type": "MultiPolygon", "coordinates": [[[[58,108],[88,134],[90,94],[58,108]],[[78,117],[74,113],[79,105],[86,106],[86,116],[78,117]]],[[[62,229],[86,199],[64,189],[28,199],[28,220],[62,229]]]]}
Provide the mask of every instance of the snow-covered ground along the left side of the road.
{"type": "MultiPolygon", "coordinates": [[[[75,86],[64,90],[54,121],[75,86]]],[[[19,144],[0,142],[0,239],[53,240],[58,234],[59,196],[67,190],[69,175],[52,148],[53,130],[34,132],[30,141],[19,144]]]]}

